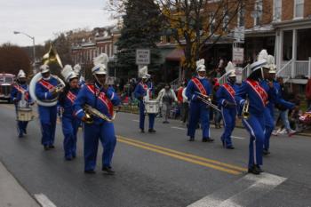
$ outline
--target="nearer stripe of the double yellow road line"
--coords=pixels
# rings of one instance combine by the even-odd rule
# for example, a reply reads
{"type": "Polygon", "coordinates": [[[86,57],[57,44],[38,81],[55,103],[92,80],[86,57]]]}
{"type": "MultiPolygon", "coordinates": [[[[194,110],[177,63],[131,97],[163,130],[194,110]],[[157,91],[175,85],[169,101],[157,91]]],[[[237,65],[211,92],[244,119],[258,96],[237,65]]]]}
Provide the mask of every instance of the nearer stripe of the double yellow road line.
{"type": "Polygon", "coordinates": [[[214,169],[214,170],[225,171],[225,172],[227,172],[229,174],[233,174],[233,175],[241,174],[240,171],[230,170],[230,169],[227,169],[227,168],[224,168],[224,167],[220,167],[220,166],[217,166],[217,165],[214,165],[214,164],[211,164],[211,163],[203,163],[202,161],[193,160],[193,159],[187,158],[185,156],[172,154],[172,153],[165,152],[163,150],[159,150],[159,149],[156,149],[156,148],[153,148],[153,147],[143,146],[143,145],[131,142],[131,141],[124,140],[124,139],[118,139],[118,141],[126,143],[128,145],[135,146],[135,147],[140,147],[140,148],[148,149],[149,151],[156,152],[158,154],[171,156],[171,157],[174,157],[176,159],[186,161],[188,163],[195,163],[195,164],[199,164],[199,165],[202,165],[202,166],[205,166],[205,167],[209,167],[209,168],[214,169]]]}

